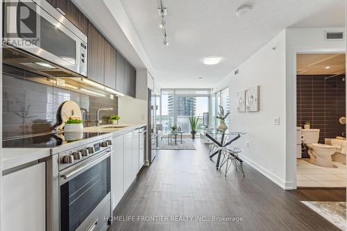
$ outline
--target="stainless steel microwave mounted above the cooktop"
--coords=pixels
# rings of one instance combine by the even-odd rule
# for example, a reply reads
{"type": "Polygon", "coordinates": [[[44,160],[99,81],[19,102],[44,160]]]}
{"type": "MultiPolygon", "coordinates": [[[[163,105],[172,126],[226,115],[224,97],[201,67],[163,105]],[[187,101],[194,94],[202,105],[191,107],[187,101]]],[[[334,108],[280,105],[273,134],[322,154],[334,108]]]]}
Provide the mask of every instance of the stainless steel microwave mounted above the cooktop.
{"type": "Polygon", "coordinates": [[[3,62],[56,77],[87,76],[87,36],[46,0],[3,0],[3,62]]]}

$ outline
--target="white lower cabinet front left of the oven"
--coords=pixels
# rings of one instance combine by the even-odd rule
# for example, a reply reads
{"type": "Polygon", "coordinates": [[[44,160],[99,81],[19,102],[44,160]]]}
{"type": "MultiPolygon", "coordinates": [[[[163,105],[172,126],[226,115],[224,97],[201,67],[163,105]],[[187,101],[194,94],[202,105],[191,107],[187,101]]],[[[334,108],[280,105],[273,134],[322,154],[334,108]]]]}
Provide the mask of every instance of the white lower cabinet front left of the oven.
{"type": "Polygon", "coordinates": [[[3,230],[46,230],[46,163],[3,176],[3,230]]]}

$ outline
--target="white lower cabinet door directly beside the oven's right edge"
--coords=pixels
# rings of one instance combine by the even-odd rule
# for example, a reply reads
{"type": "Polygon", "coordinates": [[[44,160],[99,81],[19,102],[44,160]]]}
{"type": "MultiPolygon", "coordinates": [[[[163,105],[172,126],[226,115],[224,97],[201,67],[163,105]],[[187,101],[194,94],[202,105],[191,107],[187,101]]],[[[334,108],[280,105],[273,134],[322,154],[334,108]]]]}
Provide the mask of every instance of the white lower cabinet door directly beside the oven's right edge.
{"type": "Polygon", "coordinates": [[[113,137],[114,153],[111,155],[111,195],[112,210],[118,205],[124,195],[123,190],[123,135],[113,137]]]}

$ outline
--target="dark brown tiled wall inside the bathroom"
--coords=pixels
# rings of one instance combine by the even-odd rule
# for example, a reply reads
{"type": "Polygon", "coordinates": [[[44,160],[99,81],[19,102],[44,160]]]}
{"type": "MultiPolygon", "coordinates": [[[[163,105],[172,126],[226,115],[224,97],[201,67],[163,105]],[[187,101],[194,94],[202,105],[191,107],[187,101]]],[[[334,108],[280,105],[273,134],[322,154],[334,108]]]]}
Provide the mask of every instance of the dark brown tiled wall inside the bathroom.
{"type": "Polygon", "coordinates": [[[298,75],[296,78],[297,126],[306,121],[311,128],[320,129],[319,143],[325,138],[341,136],[346,125],[339,123],[346,117],[345,76],[325,78],[326,75],[298,75]]]}

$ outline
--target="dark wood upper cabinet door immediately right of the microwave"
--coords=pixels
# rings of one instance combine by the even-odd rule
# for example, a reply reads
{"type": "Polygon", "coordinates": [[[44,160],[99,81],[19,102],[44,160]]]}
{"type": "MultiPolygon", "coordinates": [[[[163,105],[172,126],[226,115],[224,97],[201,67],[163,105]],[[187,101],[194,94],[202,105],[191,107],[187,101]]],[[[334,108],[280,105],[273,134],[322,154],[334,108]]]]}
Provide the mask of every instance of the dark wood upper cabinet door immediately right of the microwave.
{"type": "Polygon", "coordinates": [[[104,84],[106,40],[90,22],[88,26],[88,78],[104,84]]]}

